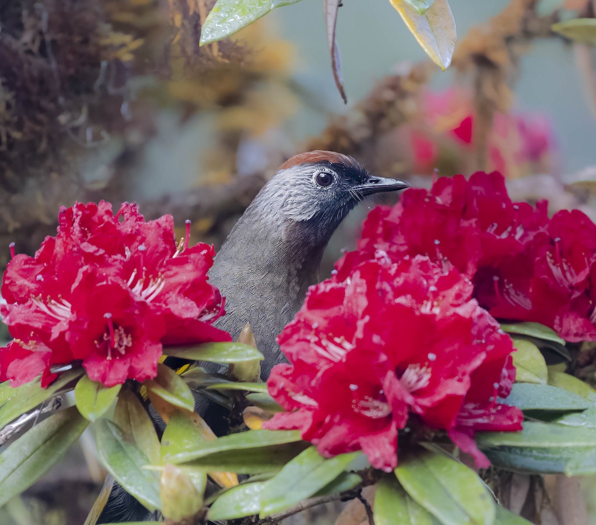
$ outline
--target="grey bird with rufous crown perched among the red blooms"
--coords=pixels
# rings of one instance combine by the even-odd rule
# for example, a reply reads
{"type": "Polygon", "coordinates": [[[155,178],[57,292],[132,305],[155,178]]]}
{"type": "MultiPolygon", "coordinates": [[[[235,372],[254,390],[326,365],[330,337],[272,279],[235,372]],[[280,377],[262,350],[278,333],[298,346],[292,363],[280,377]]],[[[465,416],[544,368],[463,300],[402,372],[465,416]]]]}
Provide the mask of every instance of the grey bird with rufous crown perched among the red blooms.
{"type": "MultiPolygon", "coordinates": [[[[263,186],[216,254],[209,281],[226,298],[215,326],[234,340],[250,325],[263,354],[261,378],[285,361],[276,336],[293,319],[308,287],[318,281],[325,247],[346,216],[368,195],[408,188],[401,179],[369,173],[350,156],[309,151],[291,157],[263,186]]],[[[210,371],[218,365],[202,364],[210,371]]],[[[196,394],[195,410],[212,427],[221,407],[196,394]]],[[[98,523],[152,517],[117,486],[98,523]]]]}

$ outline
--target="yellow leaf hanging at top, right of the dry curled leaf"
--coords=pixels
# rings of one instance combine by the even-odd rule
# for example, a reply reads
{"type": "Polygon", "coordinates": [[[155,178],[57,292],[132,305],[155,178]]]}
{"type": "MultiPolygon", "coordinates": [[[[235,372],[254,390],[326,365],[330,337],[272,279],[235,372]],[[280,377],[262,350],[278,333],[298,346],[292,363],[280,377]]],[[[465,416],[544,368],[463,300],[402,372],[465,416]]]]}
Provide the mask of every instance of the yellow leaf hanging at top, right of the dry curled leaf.
{"type": "Polygon", "coordinates": [[[443,71],[451,64],[457,42],[455,20],[447,0],[436,0],[424,14],[405,0],[389,0],[430,59],[443,71]]]}

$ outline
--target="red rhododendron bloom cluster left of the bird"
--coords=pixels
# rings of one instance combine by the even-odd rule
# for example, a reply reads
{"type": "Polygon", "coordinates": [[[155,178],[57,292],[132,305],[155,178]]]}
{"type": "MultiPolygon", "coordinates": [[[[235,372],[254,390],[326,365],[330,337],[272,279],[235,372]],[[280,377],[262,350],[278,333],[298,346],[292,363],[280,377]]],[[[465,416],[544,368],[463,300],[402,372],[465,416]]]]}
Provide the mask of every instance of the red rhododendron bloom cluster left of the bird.
{"type": "Polygon", "coordinates": [[[0,380],[11,386],[58,365],[82,361],[105,386],[157,374],[162,347],[229,341],[212,326],[224,313],[207,281],[215,253],[207,244],[176,245],[173,219],[145,222],[134,204],[60,210],[56,237],[34,257],[17,254],[2,284],[0,313],[14,340],[0,349],[0,380]]]}

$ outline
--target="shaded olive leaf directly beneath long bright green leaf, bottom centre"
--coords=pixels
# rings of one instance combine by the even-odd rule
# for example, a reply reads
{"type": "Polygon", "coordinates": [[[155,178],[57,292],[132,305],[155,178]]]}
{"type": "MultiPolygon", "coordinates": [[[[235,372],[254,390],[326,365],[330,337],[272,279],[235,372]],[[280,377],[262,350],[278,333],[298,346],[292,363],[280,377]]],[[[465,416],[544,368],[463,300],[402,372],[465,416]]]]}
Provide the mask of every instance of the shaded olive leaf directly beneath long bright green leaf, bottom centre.
{"type": "MultiPolygon", "coordinates": [[[[244,433],[241,433],[244,434],[244,433]]],[[[280,470],[288,461],[302,452],[308,443],[285,443],[284,445],[214,452],[194,461],[180,465],[189,470],[235,472],[238,474],[261,474],[280,470]]],[[[151,467],[160,469],[160,467],[151,467]]]]}

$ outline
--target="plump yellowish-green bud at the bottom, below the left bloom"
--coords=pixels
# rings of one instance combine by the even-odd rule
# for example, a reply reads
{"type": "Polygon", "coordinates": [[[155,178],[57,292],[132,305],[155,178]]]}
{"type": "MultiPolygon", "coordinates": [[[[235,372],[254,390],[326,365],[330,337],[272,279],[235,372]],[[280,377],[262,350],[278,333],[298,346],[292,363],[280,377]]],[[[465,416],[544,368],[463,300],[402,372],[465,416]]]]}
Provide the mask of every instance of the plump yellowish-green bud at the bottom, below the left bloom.
{"type": "Polygon", "coordinates": [[[185,473],[181,468],[166,464],[159,484],[162,513],[179,521],[193,516],[203,507],[203,493],[207,483],[205,473],[185,473]]]}

